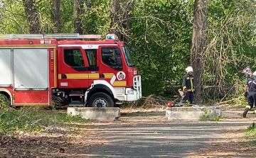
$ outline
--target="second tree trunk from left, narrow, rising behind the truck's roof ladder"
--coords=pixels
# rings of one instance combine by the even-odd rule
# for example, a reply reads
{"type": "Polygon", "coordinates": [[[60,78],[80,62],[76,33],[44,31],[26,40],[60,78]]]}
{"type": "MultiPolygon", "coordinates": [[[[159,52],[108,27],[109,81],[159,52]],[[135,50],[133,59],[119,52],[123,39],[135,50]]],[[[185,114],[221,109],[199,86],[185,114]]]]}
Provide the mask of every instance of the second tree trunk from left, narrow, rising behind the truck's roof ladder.
{"type": "Polygon", "coordinates": [[[53,0],[51,17],[53,19],[53,33],[60,33],[60,0],[53,0]]]}

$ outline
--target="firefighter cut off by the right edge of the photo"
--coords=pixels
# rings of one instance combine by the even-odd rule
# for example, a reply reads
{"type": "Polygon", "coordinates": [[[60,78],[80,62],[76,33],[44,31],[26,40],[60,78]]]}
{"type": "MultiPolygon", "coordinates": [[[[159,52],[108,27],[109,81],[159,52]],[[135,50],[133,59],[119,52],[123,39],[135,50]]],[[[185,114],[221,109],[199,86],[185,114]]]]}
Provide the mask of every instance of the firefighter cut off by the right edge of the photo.
{"type": "Polygon", "coordinates": [[[245,85],[245,98],[247,98],[249,105],[245,106],[245,111],[242,115],[244,118],[246,118],[246,114],[256,103],[256,71],[253,72],[252,78],[249,79],[245,85]]]}

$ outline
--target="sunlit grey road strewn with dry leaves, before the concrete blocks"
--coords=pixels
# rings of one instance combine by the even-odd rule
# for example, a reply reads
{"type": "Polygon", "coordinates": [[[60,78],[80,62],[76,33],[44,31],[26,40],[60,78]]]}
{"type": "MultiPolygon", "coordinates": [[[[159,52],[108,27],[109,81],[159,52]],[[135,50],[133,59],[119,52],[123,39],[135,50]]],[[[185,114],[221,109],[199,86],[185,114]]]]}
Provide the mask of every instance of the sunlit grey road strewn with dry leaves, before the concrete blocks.
{"type": "Polygon", "coordinates": [[[256,157],[255,149],[247,153],[245,146],[239,148],[238,142],[243,141],[240,129],[255,120],[253,115],[241,118],[240,109],[223,111],[223,119],[218,122],[168,121],[164,115],[164,112],[123,113],[121,121],[95,123],[90,126],[90,132],[97,135],[102,145],[80,154],[87,157],[256,157]]]}

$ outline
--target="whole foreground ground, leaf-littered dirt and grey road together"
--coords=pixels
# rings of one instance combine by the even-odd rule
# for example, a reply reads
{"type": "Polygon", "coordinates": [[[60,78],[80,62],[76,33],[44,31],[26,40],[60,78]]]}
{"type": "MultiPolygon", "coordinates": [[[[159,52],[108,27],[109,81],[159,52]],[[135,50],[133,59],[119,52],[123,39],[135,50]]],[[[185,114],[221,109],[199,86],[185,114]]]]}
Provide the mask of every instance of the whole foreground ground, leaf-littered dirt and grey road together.
{"type": "Polygon", "coordinates": [[[163,109],[122,109],[118,121],[95,121],[40,133],[0,135],[0,157],[256,157],[243,132],[255,115],[223,108],[212,121],[169,121],[163,109]]]}

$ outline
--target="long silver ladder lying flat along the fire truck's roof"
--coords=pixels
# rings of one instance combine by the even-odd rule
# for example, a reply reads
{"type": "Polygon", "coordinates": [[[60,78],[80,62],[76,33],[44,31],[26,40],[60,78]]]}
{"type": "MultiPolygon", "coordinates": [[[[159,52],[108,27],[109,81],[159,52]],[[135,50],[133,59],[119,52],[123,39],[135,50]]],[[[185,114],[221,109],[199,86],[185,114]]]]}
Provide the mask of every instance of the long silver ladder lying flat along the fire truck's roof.
{"type": "Polygon", "coordinates": [[[0,39],[97,39],[101,35],[79,35],[79,33],[58,33],[58,34],[2,34],[0,39]]]}

